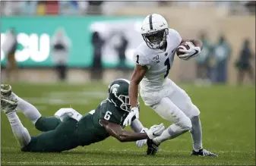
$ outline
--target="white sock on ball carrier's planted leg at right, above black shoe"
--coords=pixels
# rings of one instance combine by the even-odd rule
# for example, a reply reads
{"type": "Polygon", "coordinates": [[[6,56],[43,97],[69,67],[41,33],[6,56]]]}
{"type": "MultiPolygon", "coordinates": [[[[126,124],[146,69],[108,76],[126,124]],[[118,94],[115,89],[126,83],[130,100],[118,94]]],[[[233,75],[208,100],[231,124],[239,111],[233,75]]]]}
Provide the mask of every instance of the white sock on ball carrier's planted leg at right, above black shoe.
{"type": "Polygon", "coordinates": [[[193,149],[198,152],[203,148],[201,121],[198,116],[191,118],[192,128],[190,130],[193,139],[193,149]]]}

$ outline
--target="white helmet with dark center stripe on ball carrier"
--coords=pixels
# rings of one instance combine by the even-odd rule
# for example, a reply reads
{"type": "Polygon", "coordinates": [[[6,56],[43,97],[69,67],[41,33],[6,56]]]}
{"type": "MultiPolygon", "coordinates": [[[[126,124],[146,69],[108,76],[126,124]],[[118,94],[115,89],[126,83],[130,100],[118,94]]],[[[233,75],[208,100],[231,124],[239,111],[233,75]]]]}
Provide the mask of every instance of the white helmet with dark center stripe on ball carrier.
{"type": "Polygon", "coordinates": [[[150,49],[160,49],[168,33],[168,23],[160,14],[150,14],[142,22],[141,35],[150,49]]]}

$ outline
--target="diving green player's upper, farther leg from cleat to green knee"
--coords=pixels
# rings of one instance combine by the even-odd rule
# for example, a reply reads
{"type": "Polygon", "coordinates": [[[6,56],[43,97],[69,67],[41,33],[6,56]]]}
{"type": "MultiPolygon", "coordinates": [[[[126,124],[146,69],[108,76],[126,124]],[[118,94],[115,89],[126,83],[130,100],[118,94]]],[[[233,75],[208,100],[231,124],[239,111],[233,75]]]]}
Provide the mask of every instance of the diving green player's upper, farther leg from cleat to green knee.
{"type": "Polygon", "coordinates": [[[42,117],[40,111],[38,111],[35,106],[31,105],[29,102],[21,99],[19,96],[14,94],[14,92],[12,92],[11,86],[8,84],[1,84],[1,94],[7,99],[17,99],[17,108],[19,108],[19,110],[21,110],[21,112],[30,119],[30,121],[35,125],[37,130],[54,130],[60,123],[60,120],[56,117],[42,117]]]}

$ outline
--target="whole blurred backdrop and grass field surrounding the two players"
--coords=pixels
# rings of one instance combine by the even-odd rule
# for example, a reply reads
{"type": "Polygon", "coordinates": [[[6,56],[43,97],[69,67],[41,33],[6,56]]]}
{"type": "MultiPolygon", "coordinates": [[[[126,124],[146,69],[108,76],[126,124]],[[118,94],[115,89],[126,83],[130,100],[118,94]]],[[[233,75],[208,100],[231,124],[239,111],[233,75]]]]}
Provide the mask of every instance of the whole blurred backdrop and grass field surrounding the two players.
{"type": "MultiPolygon", "coordinates": [[[[188,159],[189,134],[164,143],[150,159],[145,149],[112,138],[71,153],[24,154],[2,114],[2,164],[255,164],[254,1],[0,3],[1,82],[45,116],[70,105],[84,114],[106,98],[110,81],[130,79],[147,14],[162,14],[185,39],[202,39],[201,55],[176,57],[169,77],[201,109],[204,146],[220,155],[188,159]]],[[[145,126],[163,121],[142,101],[141,110],[145,126]]],[[[19,116],[31,135],[39,133],[19,116]]]]}

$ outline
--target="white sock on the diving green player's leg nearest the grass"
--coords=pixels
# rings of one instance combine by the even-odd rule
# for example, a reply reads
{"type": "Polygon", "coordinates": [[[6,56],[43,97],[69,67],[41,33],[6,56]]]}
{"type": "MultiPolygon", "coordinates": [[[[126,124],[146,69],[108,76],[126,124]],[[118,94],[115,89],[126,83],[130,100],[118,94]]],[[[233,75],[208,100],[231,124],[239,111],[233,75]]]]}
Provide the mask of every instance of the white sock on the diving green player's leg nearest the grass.
{"type": "Polygon", "coordinates": [[[21,148],[27,146],[31,140],[30,133],[28,133],[27,129],[23,126],[23,124],[21,124],[21,121],[16,112],[10,112],[6,115],[11,124],[12,132],[17,139],[17,143],[20,144],[21,148]]]}

